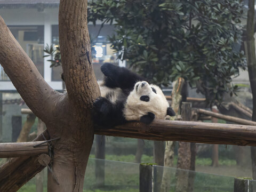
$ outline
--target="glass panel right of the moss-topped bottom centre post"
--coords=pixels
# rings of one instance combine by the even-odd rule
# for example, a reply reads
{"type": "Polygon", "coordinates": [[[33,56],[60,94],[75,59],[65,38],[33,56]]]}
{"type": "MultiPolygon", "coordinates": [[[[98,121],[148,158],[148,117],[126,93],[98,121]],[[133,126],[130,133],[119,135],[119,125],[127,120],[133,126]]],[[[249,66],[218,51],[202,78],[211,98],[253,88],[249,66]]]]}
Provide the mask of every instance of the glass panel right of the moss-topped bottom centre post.
{"type": "Polygon", "coordinates": [[[169,189],[168,191],[172,192],[184,191],[185,186],[189,186],[188,191],[194,192],[234,192],[233,177],[180,170],[172,167],[162,167],[156,165],[153,167],[154,191],[162,190],[161,187],[163,188],[164,185],[162,175],[164,175],[164,178],[166,179],[164,188],[167,188],[169,189]],[[189,183],[189,185],[187,183],[189,183]]]}

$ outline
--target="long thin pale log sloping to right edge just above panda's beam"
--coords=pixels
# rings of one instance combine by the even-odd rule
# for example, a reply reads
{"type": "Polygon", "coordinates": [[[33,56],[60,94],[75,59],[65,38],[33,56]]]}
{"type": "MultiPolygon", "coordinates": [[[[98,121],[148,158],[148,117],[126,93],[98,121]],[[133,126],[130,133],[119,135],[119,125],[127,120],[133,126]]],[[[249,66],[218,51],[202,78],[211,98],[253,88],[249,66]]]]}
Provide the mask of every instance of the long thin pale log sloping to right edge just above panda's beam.
{"type": "Polygon", "coordinates": [[[214,113],[212,111],[208,111],[208,110],[204,110],[204,109],[197,109],[197,113],[201,113],[204,115],[210,115],[212,117],[216,117],[216,118],[220,118],[226,121],[230,121],[230,122],[234,122],[234,123],[238,123],[238,124],[242,124],[242,125],[256,125],[256,122],[253,121],[249,121],[243,118],[238,118],[238,117],[232,117],[229,115],[222,115],[222,114],[218,114],[218,113],[214,113]]]}

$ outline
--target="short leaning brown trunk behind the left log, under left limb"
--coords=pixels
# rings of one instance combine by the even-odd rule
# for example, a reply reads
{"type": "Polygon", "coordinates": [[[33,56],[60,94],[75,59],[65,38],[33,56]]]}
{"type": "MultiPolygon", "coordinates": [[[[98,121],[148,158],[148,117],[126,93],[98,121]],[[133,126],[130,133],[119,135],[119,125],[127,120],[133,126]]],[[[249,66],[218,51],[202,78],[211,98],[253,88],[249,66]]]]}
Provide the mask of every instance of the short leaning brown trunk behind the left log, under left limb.
{"type": "Polygon", "coordinates": [[[35,119],[36,119],[36,116],[34,114],[28,114],[27,115],[27,120],[24,123],[24,125],[23,125],[23,127],[20,131],[20,135],[17,139],[17,142],[26,142],[26,141],[28,141],[28,134],[31,130],[31,127],[35,123],[35,119]]]}

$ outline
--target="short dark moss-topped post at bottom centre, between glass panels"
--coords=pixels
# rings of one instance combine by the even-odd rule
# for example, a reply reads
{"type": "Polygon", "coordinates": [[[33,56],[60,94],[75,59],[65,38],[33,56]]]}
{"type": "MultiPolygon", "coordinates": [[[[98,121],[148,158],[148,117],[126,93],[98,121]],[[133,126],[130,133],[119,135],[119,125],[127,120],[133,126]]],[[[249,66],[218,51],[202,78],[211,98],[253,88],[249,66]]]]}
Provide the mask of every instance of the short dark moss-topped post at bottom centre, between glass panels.
{"type": "Polygon", "coordinates": [[[140,192],[153,192],[153,165],[140,164],[140,192]]]}

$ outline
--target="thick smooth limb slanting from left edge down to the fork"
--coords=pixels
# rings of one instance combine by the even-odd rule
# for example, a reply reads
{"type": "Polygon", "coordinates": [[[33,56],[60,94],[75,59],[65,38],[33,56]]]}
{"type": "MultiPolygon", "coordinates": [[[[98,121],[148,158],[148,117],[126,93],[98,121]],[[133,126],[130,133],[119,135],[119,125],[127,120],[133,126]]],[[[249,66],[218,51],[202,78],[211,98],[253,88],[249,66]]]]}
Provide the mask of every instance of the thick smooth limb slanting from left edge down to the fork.
{"type": "Polygon", "coordinates": [[[47,122],[61,94],[41,76],[0,16],[0,64],[33,113],[47,122]],[[42,105],[43,103],[43,105],[42,105]],[[45,113],[47,111],[47,113],[45,113]]]}

